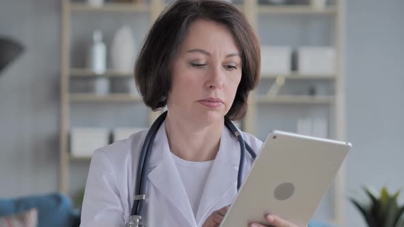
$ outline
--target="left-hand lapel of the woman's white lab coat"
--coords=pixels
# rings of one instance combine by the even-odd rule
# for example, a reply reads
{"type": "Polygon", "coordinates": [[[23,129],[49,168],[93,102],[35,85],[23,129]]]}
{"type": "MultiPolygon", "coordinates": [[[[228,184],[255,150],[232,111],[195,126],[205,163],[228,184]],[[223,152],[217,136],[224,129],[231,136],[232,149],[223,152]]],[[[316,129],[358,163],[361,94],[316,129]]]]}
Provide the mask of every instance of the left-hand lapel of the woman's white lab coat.
{"type": "Polygon", "coordinates": [[[182,213],[188,222],[186,226],[197,226],[181,176],[168,146],[164,123],[156,134],[152,150],[149,165],[152,170],[147,178],[171,202],[171,205],[182,213]]]}

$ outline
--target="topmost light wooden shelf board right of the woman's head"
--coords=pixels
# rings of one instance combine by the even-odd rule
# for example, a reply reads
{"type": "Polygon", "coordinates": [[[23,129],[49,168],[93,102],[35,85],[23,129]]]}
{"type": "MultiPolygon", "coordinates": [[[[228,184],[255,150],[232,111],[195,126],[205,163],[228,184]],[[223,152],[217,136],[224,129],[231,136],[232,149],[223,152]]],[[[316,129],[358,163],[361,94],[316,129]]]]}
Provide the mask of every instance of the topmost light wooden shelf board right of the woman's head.
{"type": "Polygon", "coordinates": [[[334,6],[327,6],[324,10],[317,10],[310,5],[259,5],[260,14],[336,14],[334,6]]]}

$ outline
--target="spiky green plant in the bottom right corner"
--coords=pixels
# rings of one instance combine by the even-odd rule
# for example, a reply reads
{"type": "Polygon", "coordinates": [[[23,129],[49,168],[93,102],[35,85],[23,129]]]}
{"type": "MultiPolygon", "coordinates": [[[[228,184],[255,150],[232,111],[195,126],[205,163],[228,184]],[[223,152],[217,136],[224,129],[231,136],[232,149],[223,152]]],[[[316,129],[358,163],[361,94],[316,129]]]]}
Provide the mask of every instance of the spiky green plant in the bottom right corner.
{"type": "Polygon", "coordinates": [[[368,202],[356,198],[349,198],[363,215],[368,227],[404,227],[404,204],[397,201],[400,190],[390,194],[386,187],[382,187],[379,195],[368,187],[364,187],[368,202]]]}

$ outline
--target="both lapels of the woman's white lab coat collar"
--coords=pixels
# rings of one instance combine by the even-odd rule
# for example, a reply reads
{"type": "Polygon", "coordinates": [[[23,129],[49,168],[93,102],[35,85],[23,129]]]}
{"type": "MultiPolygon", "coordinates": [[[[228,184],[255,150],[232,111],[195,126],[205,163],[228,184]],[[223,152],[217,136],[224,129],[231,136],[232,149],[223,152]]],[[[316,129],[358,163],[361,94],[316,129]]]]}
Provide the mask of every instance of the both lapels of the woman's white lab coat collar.
{"type": "MultiPolygon", "coordinates": [[[[239,161],[240,146],[237,139],[224,127],[220,138],[220,148],[207,177],[195,219],[181,176],[168,146],[163,122],[153,142],[153,152],[149,163],[149,167],[153,169],[149,172],[148,179],[173,203],[173,206],[179,209],[190,224],[189,226],[201,226],[200,222],[213,212],[211,209],[218,198],[236,187],[239,161]]],[[[226,205],[228,204],[224,206],[226,205]]]]}

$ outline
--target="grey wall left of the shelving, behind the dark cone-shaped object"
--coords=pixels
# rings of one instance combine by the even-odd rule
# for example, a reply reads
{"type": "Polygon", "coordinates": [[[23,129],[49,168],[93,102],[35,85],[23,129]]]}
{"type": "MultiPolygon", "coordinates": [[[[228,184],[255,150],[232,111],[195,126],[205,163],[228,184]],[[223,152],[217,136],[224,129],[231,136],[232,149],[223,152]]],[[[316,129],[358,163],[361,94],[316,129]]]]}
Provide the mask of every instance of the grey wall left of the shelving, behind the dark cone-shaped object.
{"type": "Polygon", "coordinates": [[[0,76],[0,196],[57,189],[60,2],[0,1],[0,34],[25,53],[0,76]]]}

